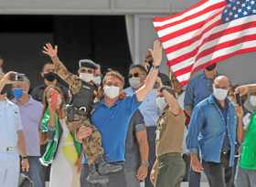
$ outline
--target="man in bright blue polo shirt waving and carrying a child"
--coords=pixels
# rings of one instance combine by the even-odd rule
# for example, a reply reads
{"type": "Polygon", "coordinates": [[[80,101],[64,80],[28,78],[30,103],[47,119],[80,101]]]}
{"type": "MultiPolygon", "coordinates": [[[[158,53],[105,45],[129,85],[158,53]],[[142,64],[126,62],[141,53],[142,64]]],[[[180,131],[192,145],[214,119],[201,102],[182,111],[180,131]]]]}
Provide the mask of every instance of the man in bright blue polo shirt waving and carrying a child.
{"type": "MultiPolygon", "coordinates": [[[[155,41],[154,50],[150,49],[150,51],[154,57],[154,63],[144,82],[144,86],[138,89],[133,96],[123,97],[124,78],[118,72],[110,71],[102,81],[103,99],[92,111],[91,121],[101,132],[102,147],[104,148],[106,161],[113,164],[125,161],[125,139],[130,119],[155,85],[158,68],[162,60],[160,42],[155,41]]],[[[77,133],[77,138],[82,140],[90,135],[90,128],[81,127],[77,133]]],[[[126,187],[123,170],[109,175],[107,186],[126,187]]]]}

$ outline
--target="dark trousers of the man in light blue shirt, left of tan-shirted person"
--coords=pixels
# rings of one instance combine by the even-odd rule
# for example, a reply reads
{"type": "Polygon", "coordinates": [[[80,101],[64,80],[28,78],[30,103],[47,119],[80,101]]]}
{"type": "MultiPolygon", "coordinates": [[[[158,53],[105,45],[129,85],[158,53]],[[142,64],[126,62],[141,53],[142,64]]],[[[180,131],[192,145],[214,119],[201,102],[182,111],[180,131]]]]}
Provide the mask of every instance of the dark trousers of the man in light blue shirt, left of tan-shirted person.
{"type": "Polygon", "coordinates": [[[150,182],[150,171],[152,170],[153,165],[155,163],[155,130],[156,127],[146,128],[147,140],[149,145],[149,172],[144,182],[145,187],[154,187],[154,185],[150,182]]]}

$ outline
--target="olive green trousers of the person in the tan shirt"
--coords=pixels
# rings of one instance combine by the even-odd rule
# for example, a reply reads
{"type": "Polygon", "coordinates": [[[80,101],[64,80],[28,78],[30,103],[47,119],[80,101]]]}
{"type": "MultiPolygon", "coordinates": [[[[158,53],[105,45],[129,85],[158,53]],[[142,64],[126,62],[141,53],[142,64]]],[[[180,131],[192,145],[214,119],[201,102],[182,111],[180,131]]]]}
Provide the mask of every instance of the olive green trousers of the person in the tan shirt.
{"type": "Polygon", "coordinates": [[[185,174],[185,162],[180,153],[168,153],[157,159],[155,187],[179,187],[185,174]]]}

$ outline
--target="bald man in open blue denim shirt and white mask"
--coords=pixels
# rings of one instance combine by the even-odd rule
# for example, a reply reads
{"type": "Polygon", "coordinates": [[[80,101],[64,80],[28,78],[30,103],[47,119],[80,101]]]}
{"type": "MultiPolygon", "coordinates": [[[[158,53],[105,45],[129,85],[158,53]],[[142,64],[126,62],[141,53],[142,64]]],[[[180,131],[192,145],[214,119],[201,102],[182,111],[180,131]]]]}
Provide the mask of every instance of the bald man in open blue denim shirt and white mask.
{"type": "Polygon", "coordinates": [[[187,134],[192,170],[205,171],[210,187],[233,185],[225,182],[224,169],[234,164],[237,121],[241,122],[242,116],[237,120],[235,107],[227,99],[228,92],[229,78],[215,78],[213,94],[193,110],[187,134]],[[198,150],[203,165],[198,160],[198,150]]]}

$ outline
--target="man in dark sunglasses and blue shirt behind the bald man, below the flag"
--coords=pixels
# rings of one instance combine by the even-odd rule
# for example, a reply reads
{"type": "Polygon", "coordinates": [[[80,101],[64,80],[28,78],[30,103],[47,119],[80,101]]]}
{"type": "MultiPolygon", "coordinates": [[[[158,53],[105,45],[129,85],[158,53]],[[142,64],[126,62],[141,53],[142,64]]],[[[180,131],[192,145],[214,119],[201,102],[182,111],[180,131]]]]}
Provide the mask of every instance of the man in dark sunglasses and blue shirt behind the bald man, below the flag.
{"type": "MultiPolygon", "coordinates": [[[[208,98],[212,93],[212,83],[217,74],[217,65],[213,64],[190,80],[186,88],[184,99],[184,109],[188,116],[191,116],[191,113],[198,102],[208,98]]],[[[189,162],[187,165],[190,165],[189,162]]],[[[189,187],[199,187],[200,173],[191,170],[188,183],[189,187]]]]}

